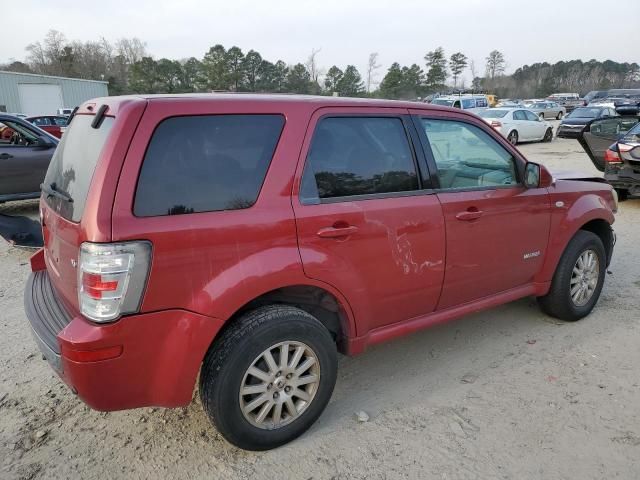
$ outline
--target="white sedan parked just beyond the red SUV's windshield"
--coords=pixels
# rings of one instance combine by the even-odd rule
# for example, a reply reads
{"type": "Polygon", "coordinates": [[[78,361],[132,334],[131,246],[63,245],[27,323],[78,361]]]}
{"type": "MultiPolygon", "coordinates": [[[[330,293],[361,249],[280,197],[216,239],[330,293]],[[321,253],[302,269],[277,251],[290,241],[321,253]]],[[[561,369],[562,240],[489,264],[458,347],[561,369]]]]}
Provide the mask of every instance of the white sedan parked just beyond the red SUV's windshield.
{"type": "Polygon", "coordinates": [[[478,112],[478,116],[504,135],[512,145],[553,140],[551,124],[524,108],[489,108],[478,112]]]}

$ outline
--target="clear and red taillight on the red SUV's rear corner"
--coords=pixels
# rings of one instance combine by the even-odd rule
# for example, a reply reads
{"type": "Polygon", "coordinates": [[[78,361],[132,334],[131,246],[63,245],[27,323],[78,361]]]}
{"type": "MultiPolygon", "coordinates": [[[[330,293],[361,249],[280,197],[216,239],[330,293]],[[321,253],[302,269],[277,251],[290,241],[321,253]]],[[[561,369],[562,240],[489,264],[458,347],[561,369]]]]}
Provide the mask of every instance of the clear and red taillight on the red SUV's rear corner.
{"type": "Polygon", "coordinates": [[[83,243],[78,262],[80,312],[94,322],[137,312],[150,265],[149,242],[83,243]]]}

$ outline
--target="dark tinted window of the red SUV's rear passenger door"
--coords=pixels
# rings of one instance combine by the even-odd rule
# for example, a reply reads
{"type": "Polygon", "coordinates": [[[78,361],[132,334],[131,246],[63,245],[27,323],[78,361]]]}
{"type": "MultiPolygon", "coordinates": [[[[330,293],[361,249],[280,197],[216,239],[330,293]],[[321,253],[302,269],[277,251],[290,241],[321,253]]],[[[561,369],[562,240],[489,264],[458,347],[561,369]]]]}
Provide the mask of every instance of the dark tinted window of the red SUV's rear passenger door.
{"type": "Polygon", "coordinates": [[[418,175],[401,119],[320,120],[302,178],[303,202],[417,189],[418,175]]]}

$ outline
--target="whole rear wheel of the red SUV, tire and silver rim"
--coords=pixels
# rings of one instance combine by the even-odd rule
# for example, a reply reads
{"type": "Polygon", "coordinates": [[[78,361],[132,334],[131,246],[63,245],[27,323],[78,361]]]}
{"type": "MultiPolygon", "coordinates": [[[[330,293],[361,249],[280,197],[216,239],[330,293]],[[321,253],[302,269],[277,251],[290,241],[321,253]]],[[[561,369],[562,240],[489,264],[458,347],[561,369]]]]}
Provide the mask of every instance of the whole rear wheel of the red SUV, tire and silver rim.
{"type": "Polygon", "coordinates": [[[252,310],[207,353],[200,398],[222,436],[268,450],[302,435],[326,407],[337,353],[316,318],[288,305],[252,310]]]}

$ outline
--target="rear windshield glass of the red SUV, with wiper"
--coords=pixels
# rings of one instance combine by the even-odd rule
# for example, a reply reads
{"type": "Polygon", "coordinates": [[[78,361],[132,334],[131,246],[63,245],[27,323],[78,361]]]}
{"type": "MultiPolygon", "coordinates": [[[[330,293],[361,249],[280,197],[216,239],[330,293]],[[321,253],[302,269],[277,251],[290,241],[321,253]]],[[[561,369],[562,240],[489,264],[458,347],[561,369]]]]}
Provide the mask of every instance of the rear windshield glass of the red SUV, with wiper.
{"type": "Polygon", "coordinates": [[[73,118],[44,179],[46,186],[69,197],[66,200],[49,196],[47,202],[59,215],[72,222],[79,222],[82,218],[93,172],[113,126],[114,118],[105,117],[99,128],[93,128],[91,122],[94,118],[93,115],[76,115],[73,118]]]}

